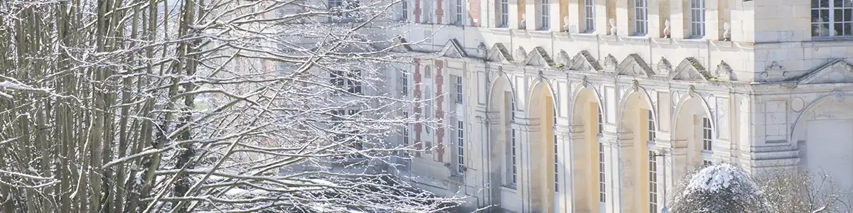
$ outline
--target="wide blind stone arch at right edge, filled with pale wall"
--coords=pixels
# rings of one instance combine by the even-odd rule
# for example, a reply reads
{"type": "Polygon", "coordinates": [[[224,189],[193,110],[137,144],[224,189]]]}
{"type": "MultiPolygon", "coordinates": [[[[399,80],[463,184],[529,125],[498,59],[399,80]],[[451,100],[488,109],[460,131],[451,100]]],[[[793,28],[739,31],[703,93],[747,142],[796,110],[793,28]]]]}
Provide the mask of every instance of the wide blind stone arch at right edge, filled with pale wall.
{"type": "Polygon", "coordinates": [[[814,176],[825,173],[840,190],[853,191],[853,95],[835,92],[812,101],[792,130],[800,166],[814,176]]]}

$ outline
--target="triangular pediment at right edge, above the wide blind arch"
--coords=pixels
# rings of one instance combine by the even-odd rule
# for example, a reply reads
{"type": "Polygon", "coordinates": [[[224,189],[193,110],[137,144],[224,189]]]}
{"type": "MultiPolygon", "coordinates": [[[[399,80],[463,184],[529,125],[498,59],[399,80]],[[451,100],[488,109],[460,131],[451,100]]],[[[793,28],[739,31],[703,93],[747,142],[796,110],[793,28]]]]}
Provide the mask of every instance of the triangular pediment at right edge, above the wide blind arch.
{"type": "Polygon", "coordinates": [[[853,83],[853,66],[844,60],[833,60],[806,74],[797,83],[853,83]]]}

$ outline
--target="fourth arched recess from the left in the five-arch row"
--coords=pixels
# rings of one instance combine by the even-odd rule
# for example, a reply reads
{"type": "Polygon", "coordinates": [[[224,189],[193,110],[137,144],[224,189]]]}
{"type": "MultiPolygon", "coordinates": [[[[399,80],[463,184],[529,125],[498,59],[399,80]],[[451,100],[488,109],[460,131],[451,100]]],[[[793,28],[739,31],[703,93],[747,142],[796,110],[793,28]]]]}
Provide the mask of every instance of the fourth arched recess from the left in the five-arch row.
{"type": "MultiPolygon", "coordinates": [[[[634,89],[632,89],[634,90],[634,89]]],[[[620,146],[619,160],[622,172],[622,210],[648,212],[649,210],[649,114],[654,117],[654,107],[647,93],[640,89],[625,93],[617,114],[617,137],[620,146]]],[[[655,188],[657,189],[657,188],[655,188]]],[[[658,210],[651,210],[657,212],[658,210]]]]}

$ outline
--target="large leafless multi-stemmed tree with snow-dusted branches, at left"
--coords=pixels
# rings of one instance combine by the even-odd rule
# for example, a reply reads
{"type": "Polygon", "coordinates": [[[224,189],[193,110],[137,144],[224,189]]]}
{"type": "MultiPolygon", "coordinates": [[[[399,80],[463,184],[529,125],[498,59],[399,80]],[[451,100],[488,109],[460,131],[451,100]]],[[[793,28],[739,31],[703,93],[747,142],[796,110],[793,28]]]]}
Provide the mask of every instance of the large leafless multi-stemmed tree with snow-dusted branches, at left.
{"type": "Polygon", "coordinates": [[[0,211],[453,206],[387,172],[397,3],[0,2],[0,211]]]}

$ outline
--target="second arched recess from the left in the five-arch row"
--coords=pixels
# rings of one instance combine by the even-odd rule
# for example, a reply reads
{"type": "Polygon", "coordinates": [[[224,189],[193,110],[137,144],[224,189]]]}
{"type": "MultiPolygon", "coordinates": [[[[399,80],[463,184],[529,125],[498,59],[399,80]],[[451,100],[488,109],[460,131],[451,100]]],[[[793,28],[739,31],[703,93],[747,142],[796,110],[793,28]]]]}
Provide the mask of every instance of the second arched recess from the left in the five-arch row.
{"type": "Polygon", "coordinates": [[[542,78],[533,84],[527,101],[527,118],[530,161],[527,165],[530,180],[531,209],[534,212],[554,212],[559,200],[554,174],[563,167],[558,164],[554,149],[554,128],[557,109],[554,90],[548,80],[542,78]]]}

